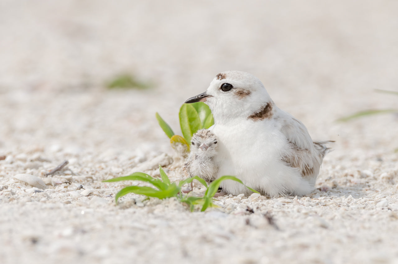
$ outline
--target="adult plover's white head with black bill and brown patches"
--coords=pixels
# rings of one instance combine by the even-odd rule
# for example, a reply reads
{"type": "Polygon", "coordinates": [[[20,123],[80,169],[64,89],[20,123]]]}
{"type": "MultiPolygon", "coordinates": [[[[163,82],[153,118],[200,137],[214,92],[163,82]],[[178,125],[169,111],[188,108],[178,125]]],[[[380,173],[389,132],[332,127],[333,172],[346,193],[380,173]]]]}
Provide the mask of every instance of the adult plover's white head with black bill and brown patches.
{"type": "Polygon", "coordinates": [[[261,81],[242,71],[219,73],[207,91],[189,98],[185,103],[204,101],[216,122],[234,119],[262,120],[272,115],[273,102],[261,81]]]}

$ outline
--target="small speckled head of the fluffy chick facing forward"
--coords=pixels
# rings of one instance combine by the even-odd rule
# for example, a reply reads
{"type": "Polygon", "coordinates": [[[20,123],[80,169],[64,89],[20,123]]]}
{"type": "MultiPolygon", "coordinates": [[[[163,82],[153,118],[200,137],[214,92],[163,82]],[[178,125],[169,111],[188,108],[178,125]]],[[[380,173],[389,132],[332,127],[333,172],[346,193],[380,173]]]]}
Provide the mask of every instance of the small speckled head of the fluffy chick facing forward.
{"type": "Polygon", "coordinates": [[[191,138],[191,152],[202,158],[211,158],[217,154],[217,138],[207,129],[198,130],[191,138]]]}

